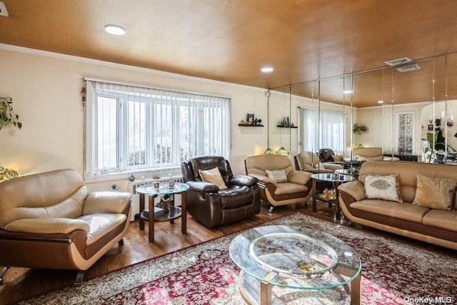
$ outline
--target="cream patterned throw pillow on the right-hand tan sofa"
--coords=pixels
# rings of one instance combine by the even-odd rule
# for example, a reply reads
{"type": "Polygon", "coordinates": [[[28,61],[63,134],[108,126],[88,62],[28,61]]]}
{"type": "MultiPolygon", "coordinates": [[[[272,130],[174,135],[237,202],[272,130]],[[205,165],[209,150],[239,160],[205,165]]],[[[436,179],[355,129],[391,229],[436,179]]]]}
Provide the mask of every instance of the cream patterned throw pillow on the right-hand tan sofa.
{"type": "Polygon", "coordinates": [[[367,199],[383,199],[403,202],[400,196],[398,174],[365,175],[365,196],[367,199]]]}

